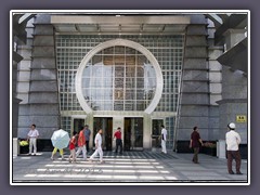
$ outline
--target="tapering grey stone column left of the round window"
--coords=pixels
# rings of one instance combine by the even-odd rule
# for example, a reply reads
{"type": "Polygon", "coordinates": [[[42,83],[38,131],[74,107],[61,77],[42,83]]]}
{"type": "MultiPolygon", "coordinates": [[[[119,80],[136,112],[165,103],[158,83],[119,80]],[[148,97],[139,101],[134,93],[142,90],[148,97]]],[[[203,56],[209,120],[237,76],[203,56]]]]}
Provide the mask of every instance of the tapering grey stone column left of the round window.
{"type": "Polygon", "coordinates": [[[30,123],[36,123],[39,139],[50,139],[60,127],[57,69],[55,63],[54,29],[50,15],[35,21],[29,87],[30,123]]]}

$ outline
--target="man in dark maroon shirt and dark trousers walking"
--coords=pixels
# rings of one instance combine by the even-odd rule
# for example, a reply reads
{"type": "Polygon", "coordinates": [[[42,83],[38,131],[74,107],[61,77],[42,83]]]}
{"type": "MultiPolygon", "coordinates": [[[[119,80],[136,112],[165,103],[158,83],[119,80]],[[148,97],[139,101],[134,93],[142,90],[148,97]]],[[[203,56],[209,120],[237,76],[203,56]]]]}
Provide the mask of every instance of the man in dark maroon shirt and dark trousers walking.
{"type": "Polygon", "coordinates": [[[203,144],[203,140],[200,139],[200,134],[198,132],[198,128],[195,126],[193,128],[193,132],[191,134],[191,141],[190,141],[190,147],[193,148],[194,155],[193,155],[193,162],[198,164],[198,153],[199,153],[199,144],[203,144]]]}

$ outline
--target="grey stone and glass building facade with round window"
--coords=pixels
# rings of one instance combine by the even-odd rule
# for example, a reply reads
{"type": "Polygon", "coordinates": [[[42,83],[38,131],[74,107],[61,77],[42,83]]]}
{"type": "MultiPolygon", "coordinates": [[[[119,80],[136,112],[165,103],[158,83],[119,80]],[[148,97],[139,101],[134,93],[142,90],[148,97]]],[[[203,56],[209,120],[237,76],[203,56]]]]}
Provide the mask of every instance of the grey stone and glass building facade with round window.
{"type": "MultiPolygon", "coordinates": [[[[194,126],[205,141],[223,140],[247,116],[247,68],[229,62],[247,39],[238,16],[226,26],[232,14],[35,14],[16,47],[17,136],[36,123],[49,145],[53,130],[88,123],[90,144],[102,128],[110,151],[121,127],[125,150],[145,150],[159,146],[165,125],[168,150],[185,152],[194,126]]],[[[247,122],[237,131],[246,146],[247,122]]]]}

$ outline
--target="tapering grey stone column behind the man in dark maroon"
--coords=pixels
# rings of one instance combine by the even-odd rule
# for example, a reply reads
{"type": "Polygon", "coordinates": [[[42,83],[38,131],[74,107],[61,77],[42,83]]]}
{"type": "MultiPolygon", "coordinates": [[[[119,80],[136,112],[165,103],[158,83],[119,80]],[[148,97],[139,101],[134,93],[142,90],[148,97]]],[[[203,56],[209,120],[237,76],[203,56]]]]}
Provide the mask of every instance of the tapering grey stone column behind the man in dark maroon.
{"type": "Polygon", "coordinates": [[[177,117],[178,142],[188,141],[194,126],[199,128],[204,140],[207,140],[209,134],[207,21],[204,15],[191,15],[191,23],[186,28],[185,55],[182,67],[180,109],[177,117]]]}

